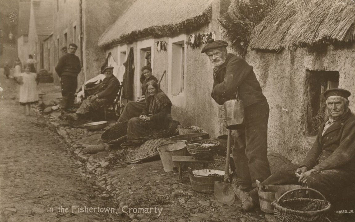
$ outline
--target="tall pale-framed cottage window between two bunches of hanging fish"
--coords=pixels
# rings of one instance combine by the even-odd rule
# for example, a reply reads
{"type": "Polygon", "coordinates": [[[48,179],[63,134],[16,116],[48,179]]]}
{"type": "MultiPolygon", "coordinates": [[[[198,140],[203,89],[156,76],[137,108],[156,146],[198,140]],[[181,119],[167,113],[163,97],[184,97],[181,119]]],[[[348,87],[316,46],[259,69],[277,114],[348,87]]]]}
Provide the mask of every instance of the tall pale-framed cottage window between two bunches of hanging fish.
{"type": "Polygon", "coordinates": [[[171,61],[171,95],[185,90],[185,41],[173,42],[171,61]]]}

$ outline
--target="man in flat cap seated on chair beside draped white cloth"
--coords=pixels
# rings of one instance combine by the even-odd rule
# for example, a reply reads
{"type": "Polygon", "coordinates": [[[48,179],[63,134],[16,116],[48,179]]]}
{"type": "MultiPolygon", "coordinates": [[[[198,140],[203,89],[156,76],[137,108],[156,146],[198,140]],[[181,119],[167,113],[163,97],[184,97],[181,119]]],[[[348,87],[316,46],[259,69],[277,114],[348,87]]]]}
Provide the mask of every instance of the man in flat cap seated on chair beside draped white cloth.
{"type": "Polygon", "coordinates": [[[89,113],[90,109],[98,109],[103,105],[108,105],[114,101],[119,91],[120,82],[113,75],[113,67],[109,66],[103,70],[106,76],[100,84],[99,92],[85,99],[76,113],[66,115],[67,118],[78,120],[82,115],[89,113]]]}

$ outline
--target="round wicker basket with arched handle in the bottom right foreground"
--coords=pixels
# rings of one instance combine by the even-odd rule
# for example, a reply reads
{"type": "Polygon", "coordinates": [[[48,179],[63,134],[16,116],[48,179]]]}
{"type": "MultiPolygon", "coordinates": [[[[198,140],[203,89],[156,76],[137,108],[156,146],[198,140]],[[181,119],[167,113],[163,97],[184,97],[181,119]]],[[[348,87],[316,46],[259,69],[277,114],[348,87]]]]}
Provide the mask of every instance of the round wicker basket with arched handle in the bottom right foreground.
{"type": "Polygon", "coordinates": [[[331,208],[331,204],[320,192],[306,187],[289,190],[278,200],[272,202],[272,206],[277,222],[327,221],[326,216],[331,208]],[[303,189],[318,193],[324,200],[312,198],[283,199],[287,194],[303,189]]]}

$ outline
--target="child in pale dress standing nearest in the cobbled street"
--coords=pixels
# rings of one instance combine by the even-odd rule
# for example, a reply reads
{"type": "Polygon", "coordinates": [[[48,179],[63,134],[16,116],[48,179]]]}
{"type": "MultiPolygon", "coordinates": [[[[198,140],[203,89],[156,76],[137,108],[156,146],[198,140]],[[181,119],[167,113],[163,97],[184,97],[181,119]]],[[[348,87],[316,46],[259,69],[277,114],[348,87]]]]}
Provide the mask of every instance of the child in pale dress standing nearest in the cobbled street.
{"type": "Polygon", "coordinates": [[[31,67],[26,64],[24,73],[16,78],[20,84],[20,104],[24,106],[26,115],[31,115],[31,104],[38,102],[37,74],[31,73],[31,67]]]}

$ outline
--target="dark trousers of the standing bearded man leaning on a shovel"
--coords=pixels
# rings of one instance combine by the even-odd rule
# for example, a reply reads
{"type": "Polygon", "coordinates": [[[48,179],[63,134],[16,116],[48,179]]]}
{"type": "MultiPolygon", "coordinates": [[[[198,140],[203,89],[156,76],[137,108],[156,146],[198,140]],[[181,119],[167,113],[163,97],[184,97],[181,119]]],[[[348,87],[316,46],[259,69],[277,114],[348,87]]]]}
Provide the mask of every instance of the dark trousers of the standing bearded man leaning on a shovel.
{"type": "Polygon", "coordinates": [[[254,103],[244,109],[245,129],[236,130],[232,154],[242,190],[250,189],[256,180],[264,181],[271,174],[267,159],[268,119],[268,103],[254,103]]]}

